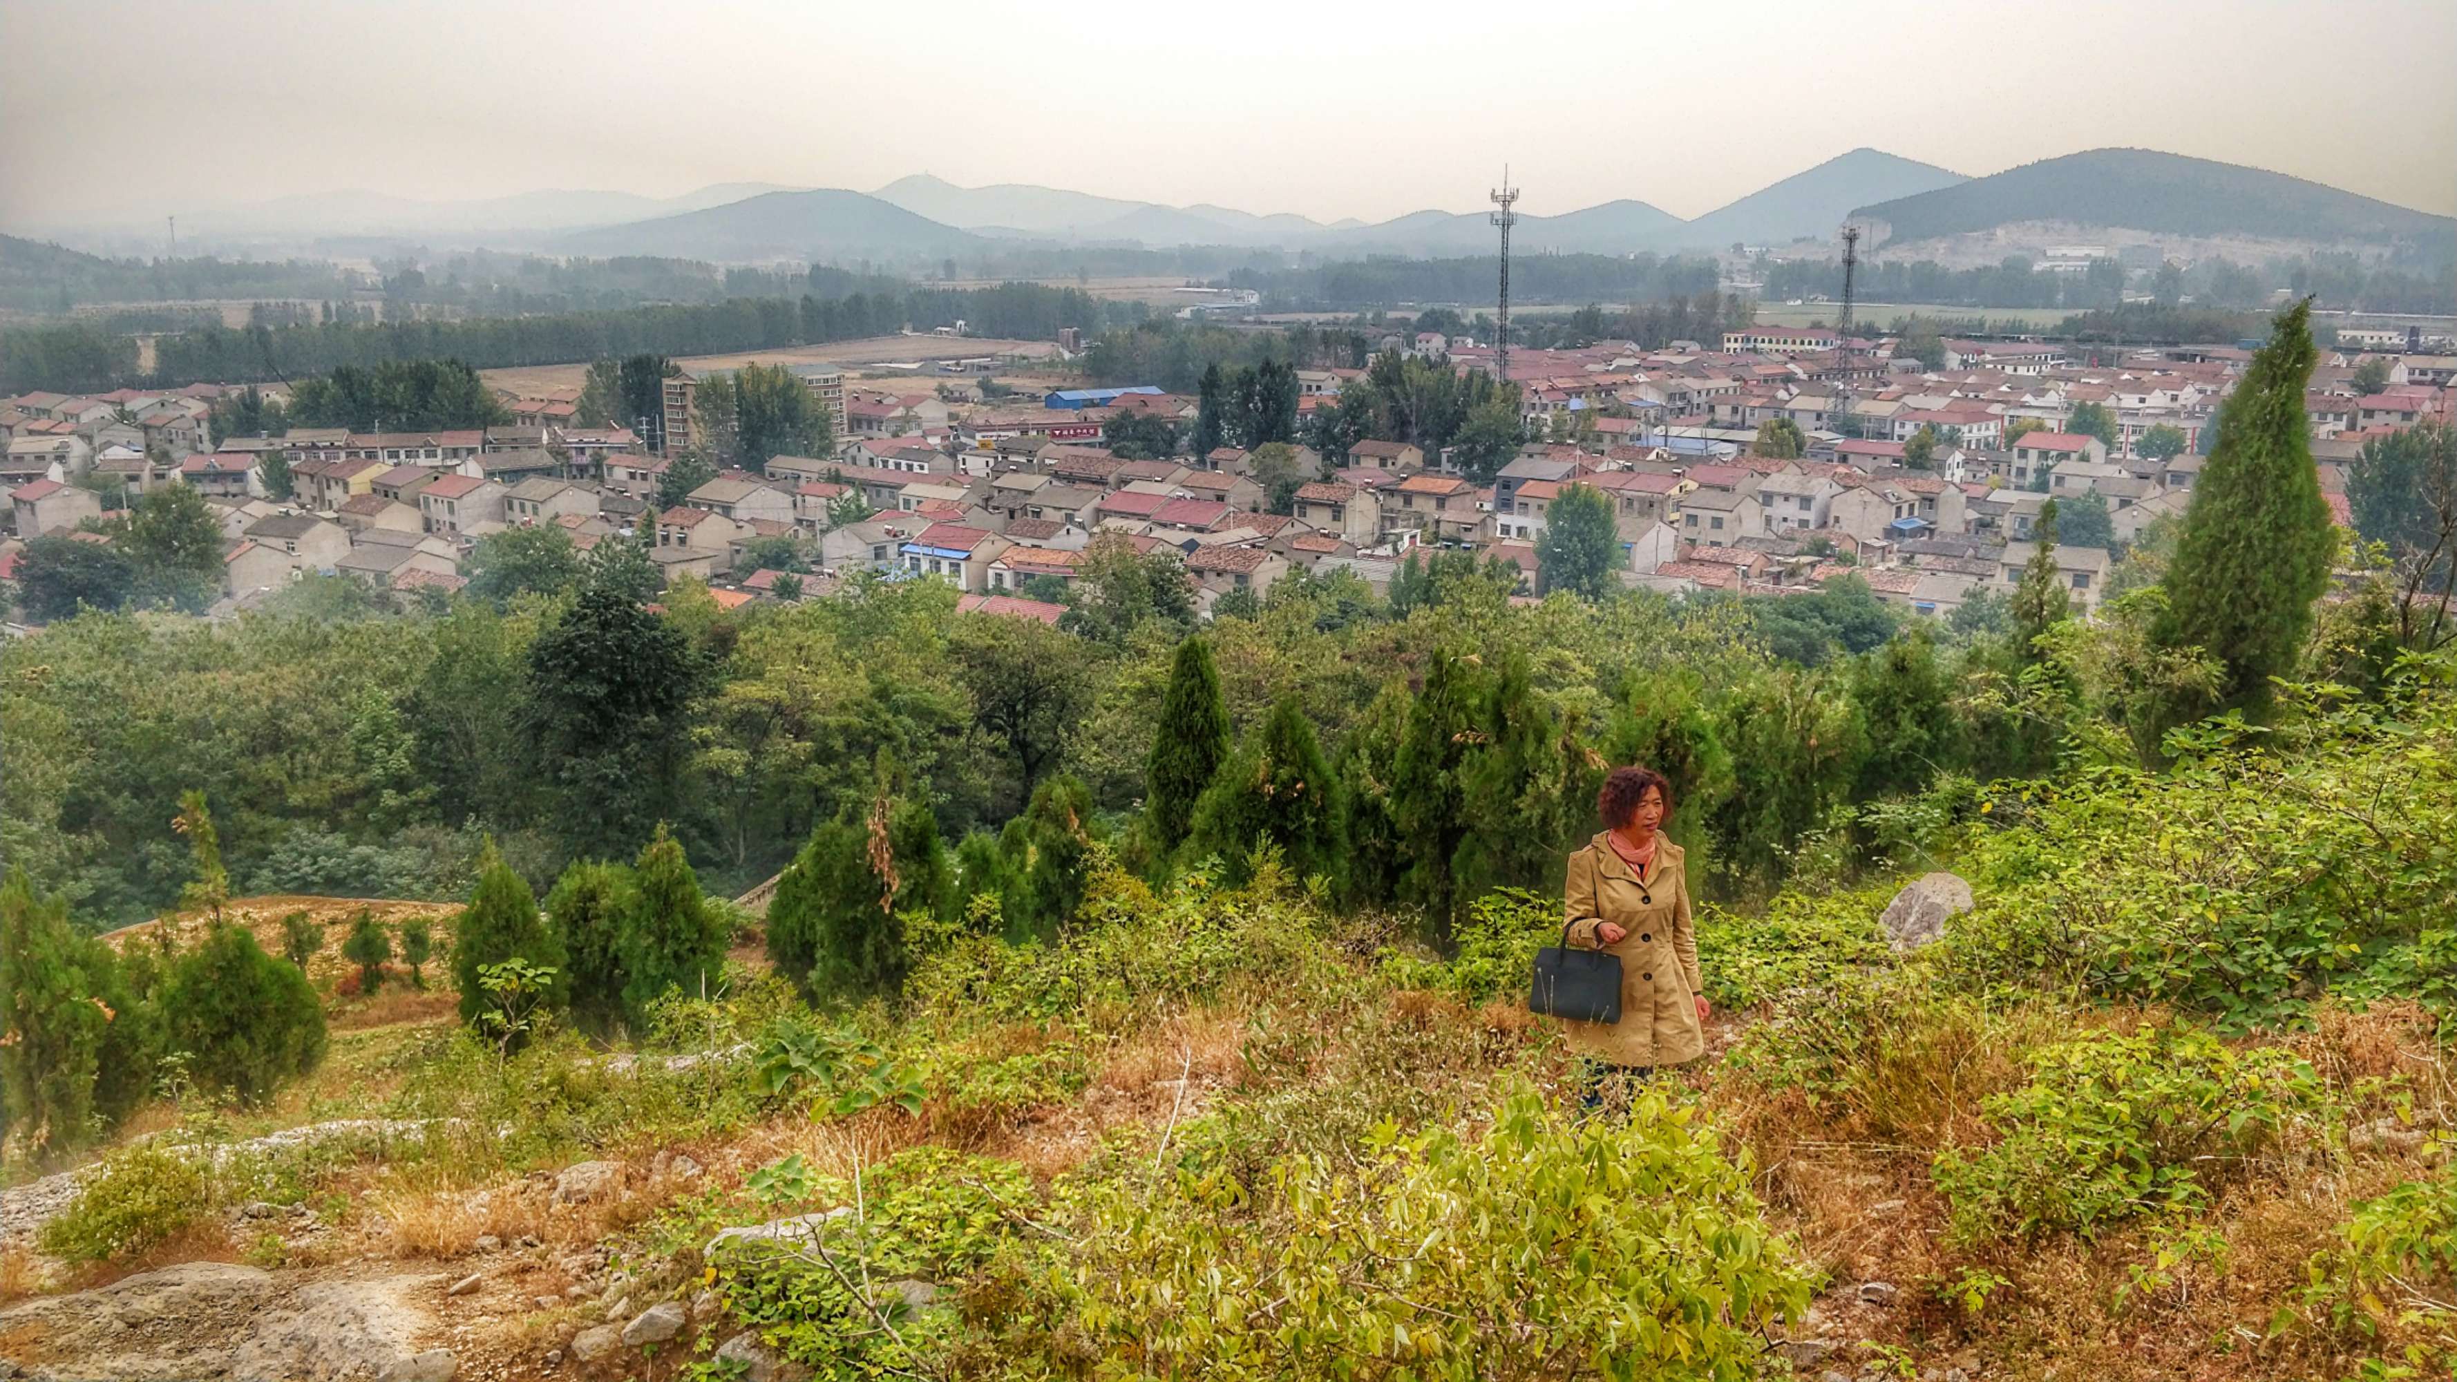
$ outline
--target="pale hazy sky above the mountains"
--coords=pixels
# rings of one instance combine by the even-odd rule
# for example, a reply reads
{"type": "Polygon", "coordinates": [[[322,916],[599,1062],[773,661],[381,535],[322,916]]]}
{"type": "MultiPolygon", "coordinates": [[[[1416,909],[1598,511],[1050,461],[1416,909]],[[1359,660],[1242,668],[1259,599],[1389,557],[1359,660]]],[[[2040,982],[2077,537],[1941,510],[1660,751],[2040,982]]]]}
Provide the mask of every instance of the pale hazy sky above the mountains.
{"type": "Polygon", "coordinates": [[[0,0],[0,229],[369,187],[1695,216],[1875,145],[2101,145],[2457,211],[2457,0],[0,0]]]}

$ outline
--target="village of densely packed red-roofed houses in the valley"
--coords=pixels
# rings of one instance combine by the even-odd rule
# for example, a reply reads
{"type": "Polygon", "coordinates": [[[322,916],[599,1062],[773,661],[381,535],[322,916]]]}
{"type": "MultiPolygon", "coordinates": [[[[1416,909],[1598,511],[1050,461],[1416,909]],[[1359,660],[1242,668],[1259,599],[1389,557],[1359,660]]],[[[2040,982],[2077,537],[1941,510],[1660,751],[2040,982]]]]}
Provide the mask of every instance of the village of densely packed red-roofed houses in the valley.
{"type": "MultiPolygon", "coordinates": [[[[1496,352],[1464,337],[1381,330],[1376,347],[1462,374],[1496,371],[1496,352]]],[[[1197,398],[1155,386],[1034,398],[995,384],[1000,396],[983,398],[998,359],[966,361],[983,374],[953,386],[796,366],[833,418],[833,455],[722,470],[663,509],[668,457],[641,433],[666,438],[671,452],[700,435],[688,369],[666,381],[666,416],[651,428],[572,425],[577,389],[558,389],[504,391],[514,425],[297,428],[219,445],[209,411],[236,389],[27,393],[0,406],[0,511],[12,524],[0,578],[44,534],[108,543],[96,531],[106,497],[192,484],[226,541],[214,605],[224,615],[307,573],[354,575],[403,598],[452,593],[479,539],[541,524],[565,529],[582,551],[609,534],[636,536],[668,583],[705,580],[720,605],[821,598],[872,571],[948,580],[966,607],[1057,622],[1098,534],[1179,553],[1204,612],[1233,593],[1268,598],[1297,573],[1346,571],[1388,593],[1418,551],[1516,563],[1533,595],[1545,511],[1587,484],[1612,504],[1624,585],[1786,595],[1848,575],[1887,602],[1951,615],[1973,593],[2015,588],[2049,499],[2103,504],[2118,546],[2179,516],[2204,430],[2251,357],[2209,344],[2074,359],[2039,342],[1943,339],[1929,366],[1897,347],[1894,337],[1752,327],[1715,349],[1516,349],[1509,384],[1536,440],[1491,482],[1405,440],[1361,440],[1337,462],[1290,445],[1285,457],[1263,457],[1305,480],[1283,489],[1280,511],[1251,450],[1123,460],[1103,445],[1125,413],[1187,435],[1197,398]],[[2096,425],[2076,430],[2076,416],[2096,425]],[[283,497],[268,487],[273,455],[287,472],[283,497]]],[[[2452,354],[2322,352],[2307,413],[2342,521],[2346,467],[2364,443],[2445,423],[2452,374],[2452,354]]],[[[1361,376],[1297,371],[1297,435],[1307,413],[1361,376]]],[[[2113,551],[2069,536],[2057,566],[2088,612],[2113,551]]]]}

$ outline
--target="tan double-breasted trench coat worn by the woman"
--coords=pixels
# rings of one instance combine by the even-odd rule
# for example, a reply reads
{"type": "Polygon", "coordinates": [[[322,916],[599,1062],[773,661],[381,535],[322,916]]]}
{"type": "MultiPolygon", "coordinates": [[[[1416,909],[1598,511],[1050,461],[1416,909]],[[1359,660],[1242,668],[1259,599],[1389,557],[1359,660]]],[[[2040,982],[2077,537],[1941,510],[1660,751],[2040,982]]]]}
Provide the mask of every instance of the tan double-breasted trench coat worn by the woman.
{"type": "Polygon", "coordinates": [[[1656,858],[1639,878],[1612,851],[1612,831],[1570,856],[1563,885],[1563,920],[1570,944],[1622,957],[1622,1021],[1563,1028],[1570,1050],[1609,1065],[1681,1065],[1705,1052],[1698,1021],[1698,932],[1688,915],[1688,873],[1681,846],[1656,839],[1656,858]],[[1604,944],[1595,927],[1614,922],[1619,944],[1604,944]]]}

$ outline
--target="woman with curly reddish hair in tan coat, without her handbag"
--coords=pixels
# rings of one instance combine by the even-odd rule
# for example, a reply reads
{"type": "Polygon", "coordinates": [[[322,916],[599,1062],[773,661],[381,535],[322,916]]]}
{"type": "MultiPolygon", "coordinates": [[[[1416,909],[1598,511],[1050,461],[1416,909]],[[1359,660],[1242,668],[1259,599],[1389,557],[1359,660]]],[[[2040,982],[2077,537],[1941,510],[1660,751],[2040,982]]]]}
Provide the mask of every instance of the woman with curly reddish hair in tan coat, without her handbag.
{"type": "Polygon", "coordinates": [[[1602,1107],[1607,1077],[1627,1084],[1658,1065],[1698,1060],[1710,1011],[1681,846],[1661,834],[1673,814],[1671,782],[1646,767],[1614,767],[1595,809],[1607,829],[1570,856],[1563,885],[1570,944],[1622,957],[1622,1021],[1565,1023],[1590,1112],[1602,1107]]]}

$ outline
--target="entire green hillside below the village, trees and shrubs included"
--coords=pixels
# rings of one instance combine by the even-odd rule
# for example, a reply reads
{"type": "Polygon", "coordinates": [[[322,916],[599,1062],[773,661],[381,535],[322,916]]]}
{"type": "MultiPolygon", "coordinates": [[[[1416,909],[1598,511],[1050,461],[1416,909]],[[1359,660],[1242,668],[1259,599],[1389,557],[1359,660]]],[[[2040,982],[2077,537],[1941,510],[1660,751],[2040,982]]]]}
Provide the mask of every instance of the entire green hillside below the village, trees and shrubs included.
{"type": "Polygon", "coordinates": [[[2457,649],[2307,366],[2093,620],[2049,509],[1948,625],[602,541],[15,639],[0,1360],[329,1375],[265,1321],[339,1291],[393,1377],[2447,1377],[2457,649]],[[1526,991],[1617,762],[1713,1018],[1580,1116],[1526,991]]]}

